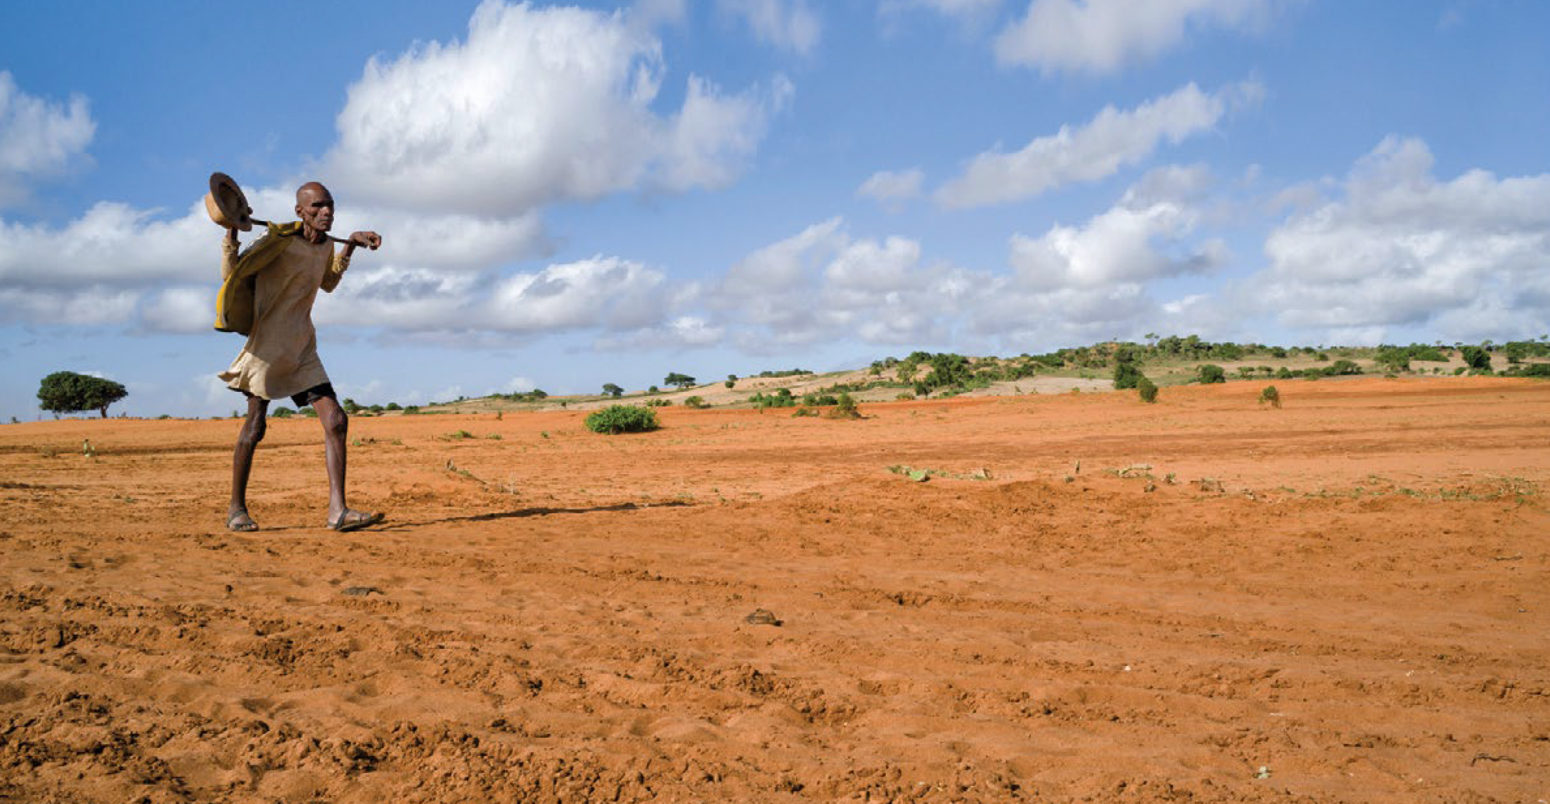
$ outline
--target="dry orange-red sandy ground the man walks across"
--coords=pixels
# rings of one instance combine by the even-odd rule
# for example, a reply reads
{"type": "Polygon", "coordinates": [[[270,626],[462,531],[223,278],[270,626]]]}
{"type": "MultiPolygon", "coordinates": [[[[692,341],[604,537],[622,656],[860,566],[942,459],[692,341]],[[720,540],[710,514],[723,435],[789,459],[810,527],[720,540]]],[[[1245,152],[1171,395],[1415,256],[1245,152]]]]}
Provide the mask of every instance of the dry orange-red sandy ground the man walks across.
{"type": "Polygon", "coordinates": [[[0,799],[1550,798],[1550,384],[1277,386],[5,426],[0,799]]]}

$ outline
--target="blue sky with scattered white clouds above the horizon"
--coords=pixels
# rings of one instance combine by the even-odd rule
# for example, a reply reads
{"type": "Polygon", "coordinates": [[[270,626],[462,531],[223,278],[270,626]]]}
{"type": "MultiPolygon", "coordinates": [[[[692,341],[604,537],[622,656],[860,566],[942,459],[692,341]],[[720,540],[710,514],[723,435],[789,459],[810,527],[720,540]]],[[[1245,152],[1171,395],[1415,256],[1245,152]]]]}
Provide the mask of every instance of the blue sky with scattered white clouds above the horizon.
{"type": "Polygon", "coordinates": [[[1550,333],[1539,2],[0,8],[0,417],[219,415],[223,170],[377,229],[361,403],[1145,333],[1550,333]]]}

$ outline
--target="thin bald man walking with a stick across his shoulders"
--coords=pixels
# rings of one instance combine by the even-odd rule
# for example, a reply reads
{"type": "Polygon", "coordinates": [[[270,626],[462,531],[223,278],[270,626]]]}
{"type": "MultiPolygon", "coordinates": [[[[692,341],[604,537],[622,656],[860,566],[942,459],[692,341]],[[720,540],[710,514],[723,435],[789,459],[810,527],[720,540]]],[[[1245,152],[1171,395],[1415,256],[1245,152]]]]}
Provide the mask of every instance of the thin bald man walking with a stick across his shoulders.
{"type": "Polygon", "coordinates": [[[329,239],[333,197],[316,181],[296,191],[296,217],[270,225],[248,251],[237,256],[237,229],[228,226],[222,240],[222,290],[215,328],[248,335],[246,345],[219,376],[248,398],[248,417],[237,434],[231,463],[231,507],[226,527],[259,530],[248,514],[248,474],[253,451],[264,440],[271,400],[290,397],[298,407],[312,406],[322,423],[324,457],[329,466],[329,519],[338,531],[360,530],[383,521],[380,513],[356,511],[344,503],[344,452],[349,418],[318,359],[318,332],[312,304],[318,290],[332,293],[350,265],[356,246],[377,249],[377,232],[353,232],[335,254],[329,239]]]}

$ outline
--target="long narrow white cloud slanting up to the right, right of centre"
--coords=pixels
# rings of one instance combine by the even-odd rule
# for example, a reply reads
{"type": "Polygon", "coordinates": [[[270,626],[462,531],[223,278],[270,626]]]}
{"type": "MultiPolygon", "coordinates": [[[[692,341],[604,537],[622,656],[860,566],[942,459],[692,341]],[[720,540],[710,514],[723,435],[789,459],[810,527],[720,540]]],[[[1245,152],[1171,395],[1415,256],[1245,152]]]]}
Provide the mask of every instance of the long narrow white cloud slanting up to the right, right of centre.
{"type": "Polygon", "coordinates": [[[989,150],[969,161],[963,175],[936,191],[947,208],[970,208],[1029,198],[1074,181],[1096,181],[1150,156],[1161,143],[1211,130],[1237,104],[1263,93],[1254,82],[1204,93],[1187,84],[1130,110],[1104,107],[1080,127],[1062,125],[1023,149],[989,150]]]}

